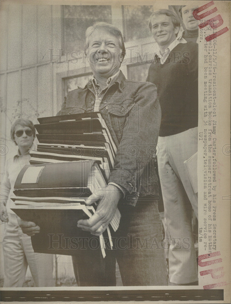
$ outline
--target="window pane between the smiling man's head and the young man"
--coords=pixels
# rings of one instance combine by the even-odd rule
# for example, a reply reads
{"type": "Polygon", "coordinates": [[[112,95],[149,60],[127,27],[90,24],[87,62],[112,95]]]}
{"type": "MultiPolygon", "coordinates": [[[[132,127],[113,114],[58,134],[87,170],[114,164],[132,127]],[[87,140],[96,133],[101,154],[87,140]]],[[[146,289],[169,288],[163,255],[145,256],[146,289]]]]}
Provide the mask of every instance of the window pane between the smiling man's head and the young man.
{"type": "Polygon", "coordinates": [[[148,19],[153,12],[152,5],[122,5],[124,41],[151,36],[148,19]]]}

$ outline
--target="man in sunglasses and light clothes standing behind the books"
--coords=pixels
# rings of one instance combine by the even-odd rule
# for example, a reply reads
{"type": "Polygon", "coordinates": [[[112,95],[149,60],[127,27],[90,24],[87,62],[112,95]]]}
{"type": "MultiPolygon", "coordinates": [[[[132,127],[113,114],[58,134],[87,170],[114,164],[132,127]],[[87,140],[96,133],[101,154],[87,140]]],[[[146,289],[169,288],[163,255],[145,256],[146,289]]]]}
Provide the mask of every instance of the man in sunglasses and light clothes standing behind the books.
{"type": "Polygon", "coordinates": [[[11,128],[11,139],[18,146],[18,153],[5,164],[5,174],[1,183],[0,219],[6,222],[3,239],[4,287],[22,287],[29,265],[34,286],[54,286],[53,255],[35,253],[31,238],[22,233],[15,213],[10,209],[14,203],[15,180],[21,169],[29,164],[30,150],[35,138],[35,127],[30,120],[17,119],[11,128]]]}

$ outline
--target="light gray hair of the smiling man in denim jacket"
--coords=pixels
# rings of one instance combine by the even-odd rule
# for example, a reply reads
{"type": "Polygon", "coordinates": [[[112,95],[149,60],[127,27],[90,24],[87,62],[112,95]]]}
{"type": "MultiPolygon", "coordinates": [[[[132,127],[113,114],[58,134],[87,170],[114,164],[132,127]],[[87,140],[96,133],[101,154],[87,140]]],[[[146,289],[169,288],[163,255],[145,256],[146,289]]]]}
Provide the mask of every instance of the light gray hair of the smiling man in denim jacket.
{"type": "Polygon", "coordinates": [[[110,23],[107,22],[96,22],[93,24],[93,26],[89,26],[86,30],[86,42],[85,42],[85,46],[84,46],[84,54],[87,55],[87,49],[89,47],[89,39],[90,36],[94,33],[95,30],[97,29],[103,29],[104,31],[114,35],[115,37],[118,38],[119,40],[119,46],[122,50],[122,55],[123,55],[123,59],[126,53],[125,50],[125,46],[124,46],[124,38],[123,35],[121,33],[121,31],[119,29],[117,29],[117,27],[113,26],[110,23]]]}

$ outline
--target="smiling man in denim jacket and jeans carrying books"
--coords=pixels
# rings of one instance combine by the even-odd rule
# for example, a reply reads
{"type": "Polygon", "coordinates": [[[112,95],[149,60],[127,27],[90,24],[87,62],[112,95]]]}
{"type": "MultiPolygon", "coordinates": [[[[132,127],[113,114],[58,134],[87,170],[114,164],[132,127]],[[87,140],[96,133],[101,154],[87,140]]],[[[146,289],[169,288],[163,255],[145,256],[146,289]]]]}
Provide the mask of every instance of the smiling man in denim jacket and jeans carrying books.
{"type": "MultiPolygon", "coordinates": [[[[161,110],[155,85],[126,80],[120,71],[125,47],[119,29],[97,22],[86,31],[85,55],[93,72],[84,88],[70,91],[59,115],[99,111],[117,144],[115,165],[107,187],[90,195],[87,204],[100,200],[90,219],[79,220],[86,247],[76,250],[73,268],[78,286],[116,285],[118,262],[124,286],[167,285],[161,219],[158,213],[158,179],[153,153],[161,110]],[[116,208],[121,212],[114,233],[114,248],[91,246],[92,234],[102,234],[116,208]]],[[[23,231],[39,227],[21,221],[23,231]]]]}

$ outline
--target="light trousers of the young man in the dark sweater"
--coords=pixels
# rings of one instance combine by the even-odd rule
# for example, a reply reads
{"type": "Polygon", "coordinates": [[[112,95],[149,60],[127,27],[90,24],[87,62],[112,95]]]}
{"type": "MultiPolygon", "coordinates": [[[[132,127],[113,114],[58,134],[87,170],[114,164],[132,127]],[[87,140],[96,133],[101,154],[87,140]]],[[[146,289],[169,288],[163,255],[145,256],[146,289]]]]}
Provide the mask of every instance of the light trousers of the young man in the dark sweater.
{"type": "MultiPolygon", "coordinates": [[[[192,208],[198,217],[194,193],[184,161],[197,151],[198,128],[158,138],[158,172],[169,241],[169,281],[188,284],[198,280],[192,234],[192,208]]],[[[195,168],[197,170],[197,168],[195,168]]]]}

